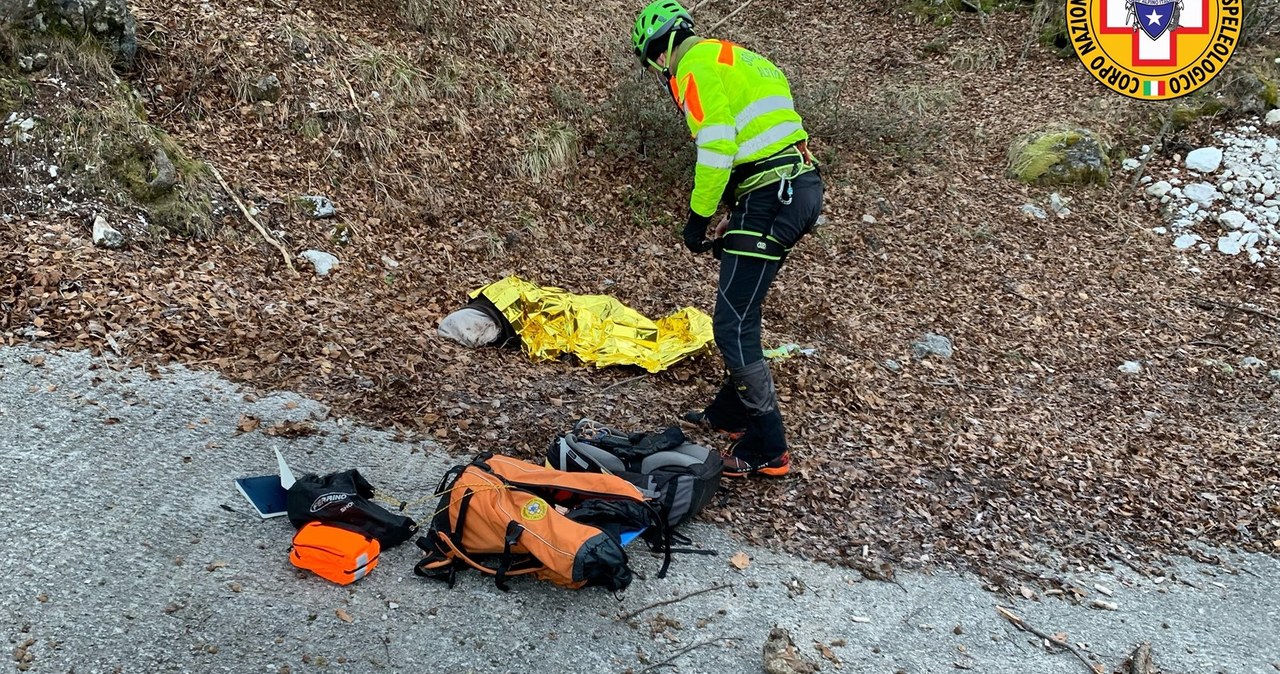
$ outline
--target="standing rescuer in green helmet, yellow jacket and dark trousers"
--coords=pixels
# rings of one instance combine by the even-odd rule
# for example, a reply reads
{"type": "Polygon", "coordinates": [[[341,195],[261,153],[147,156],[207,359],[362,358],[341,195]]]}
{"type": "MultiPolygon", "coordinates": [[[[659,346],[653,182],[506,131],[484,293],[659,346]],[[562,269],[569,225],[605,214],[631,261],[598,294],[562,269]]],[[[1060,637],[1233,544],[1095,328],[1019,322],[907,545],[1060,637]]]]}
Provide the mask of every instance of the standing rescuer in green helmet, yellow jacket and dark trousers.
{"type": "Polygon", "coordinates": [[[724,474],[782,476],[791,468],[773,376],[760,347],[760,306],[787,252],[818,221],[823,184],[786,75],[768,59],[694,35],[675,0],[636,18],[631,46],[660,73],[698,145],[685,246],[721,261],[716,345],[728,375],[689,421],[731,439],[724,474]],[[707,231],[719,205],[728,215],[707,231]]]}

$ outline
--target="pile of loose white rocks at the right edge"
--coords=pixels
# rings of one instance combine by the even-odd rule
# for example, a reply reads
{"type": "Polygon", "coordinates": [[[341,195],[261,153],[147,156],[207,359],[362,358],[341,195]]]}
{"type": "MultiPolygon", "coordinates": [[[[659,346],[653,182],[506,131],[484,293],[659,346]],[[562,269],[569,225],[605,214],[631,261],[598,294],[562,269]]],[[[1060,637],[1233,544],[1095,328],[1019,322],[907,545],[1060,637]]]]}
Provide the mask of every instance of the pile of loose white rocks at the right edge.
{"type": "Polygon", "coordinates": [[[1157,234],[1171,234],[1178,249],[1280,265],[1280,129],[1258,124],[1217,132],[1215,146],[1187,153],[1184,169],[1143,178],[1147,196],[1160,200],[1170,217],[1157,234]]]}

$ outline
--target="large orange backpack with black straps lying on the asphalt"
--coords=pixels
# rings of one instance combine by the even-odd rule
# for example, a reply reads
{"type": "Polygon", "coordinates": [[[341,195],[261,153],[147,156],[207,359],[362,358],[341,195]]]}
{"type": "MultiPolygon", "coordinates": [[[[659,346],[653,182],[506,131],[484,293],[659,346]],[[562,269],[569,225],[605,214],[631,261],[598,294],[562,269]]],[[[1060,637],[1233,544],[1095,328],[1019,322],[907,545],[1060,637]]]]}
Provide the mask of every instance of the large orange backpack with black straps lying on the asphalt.
{"type": "MultiPolygon", "coordinates": [[[[646,540],[657,540],[666,533],[640,490],[612,474],[481,454],[445,473],[436,492],[431,528],[417,540],[426,556],[413,572],[451,587],[457,569],[470,567],[494,576],[503,591],[508,577],[525,574],[573,590],[623,590],[631,569],[621,535],[648,528],[646,540]]],[[[659,577],[666,570],[664,561],[659,577]]]]}

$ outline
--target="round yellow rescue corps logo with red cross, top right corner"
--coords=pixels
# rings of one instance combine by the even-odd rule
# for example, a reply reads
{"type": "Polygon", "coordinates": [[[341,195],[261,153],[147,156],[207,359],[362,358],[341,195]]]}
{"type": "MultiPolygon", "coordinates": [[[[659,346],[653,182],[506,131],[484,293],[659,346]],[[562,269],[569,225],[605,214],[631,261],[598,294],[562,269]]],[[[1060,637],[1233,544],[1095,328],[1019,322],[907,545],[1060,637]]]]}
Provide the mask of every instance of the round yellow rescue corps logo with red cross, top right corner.
{"type": "Polygon", "coordinates": [[[1130,98],[1178,98],[1222,70],[1240,36],[1243,0],[1068,0],[1075,55],[1130,98]]]}

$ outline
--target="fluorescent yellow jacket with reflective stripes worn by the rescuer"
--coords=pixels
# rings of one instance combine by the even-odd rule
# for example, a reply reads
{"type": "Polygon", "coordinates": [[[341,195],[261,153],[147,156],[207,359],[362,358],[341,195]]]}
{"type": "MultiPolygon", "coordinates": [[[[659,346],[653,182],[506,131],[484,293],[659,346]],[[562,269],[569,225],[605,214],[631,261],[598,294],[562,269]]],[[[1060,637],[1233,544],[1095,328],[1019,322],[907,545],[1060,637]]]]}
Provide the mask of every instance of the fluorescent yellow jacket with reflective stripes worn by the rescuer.
{"type": "Polygon", "coordinates": [[[805,141],[786,75],[768,59],[721,40],[703,40],[676,63],[672,93],[698,143],[689,207],[710,217],[735,166],[805,141]]]}

